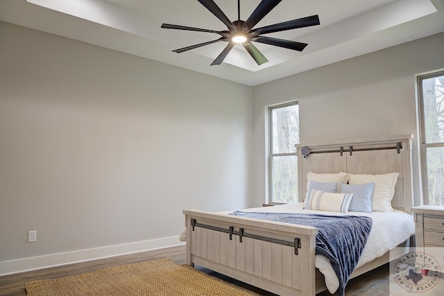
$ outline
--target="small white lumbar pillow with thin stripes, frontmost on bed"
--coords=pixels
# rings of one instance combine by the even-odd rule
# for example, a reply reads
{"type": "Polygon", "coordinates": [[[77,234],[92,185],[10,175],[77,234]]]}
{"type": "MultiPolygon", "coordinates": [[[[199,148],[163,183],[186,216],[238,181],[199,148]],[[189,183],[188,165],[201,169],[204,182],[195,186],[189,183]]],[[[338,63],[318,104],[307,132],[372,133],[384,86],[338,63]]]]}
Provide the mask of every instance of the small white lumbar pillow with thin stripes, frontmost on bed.
{"type": "Polygon", "coordinates": [[[347,213],[352,198],[353,193],[330,193],[312,189],[305,202],[305,209],[347,213]]]}

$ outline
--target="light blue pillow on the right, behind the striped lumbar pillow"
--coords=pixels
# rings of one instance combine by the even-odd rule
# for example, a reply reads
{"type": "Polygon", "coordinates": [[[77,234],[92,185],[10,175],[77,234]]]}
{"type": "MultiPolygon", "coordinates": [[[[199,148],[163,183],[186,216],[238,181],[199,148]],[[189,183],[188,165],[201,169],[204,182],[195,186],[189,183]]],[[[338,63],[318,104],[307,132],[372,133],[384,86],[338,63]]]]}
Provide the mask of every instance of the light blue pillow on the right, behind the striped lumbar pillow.
{"type": "Polygon", "coordinates": [[[345,184],[341,183],[341,193],[354,193],[348,211],[372,212],[372,193],[375,183],[345,184]]]}

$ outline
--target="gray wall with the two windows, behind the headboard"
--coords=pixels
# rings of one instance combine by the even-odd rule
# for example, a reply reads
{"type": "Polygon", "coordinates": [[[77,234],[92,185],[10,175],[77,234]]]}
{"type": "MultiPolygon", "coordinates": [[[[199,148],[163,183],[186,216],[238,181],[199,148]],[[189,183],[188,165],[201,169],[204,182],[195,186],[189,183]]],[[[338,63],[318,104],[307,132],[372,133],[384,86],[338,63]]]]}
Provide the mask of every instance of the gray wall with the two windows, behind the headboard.
{"type": "Polygon", "coordinates": [[[266,109],[300,105],[300,141],[414,134],[413,178],[420,202],[416,74],[444,68],[444,33],[254,87],[254,197],[268,196],[266,109]]]}

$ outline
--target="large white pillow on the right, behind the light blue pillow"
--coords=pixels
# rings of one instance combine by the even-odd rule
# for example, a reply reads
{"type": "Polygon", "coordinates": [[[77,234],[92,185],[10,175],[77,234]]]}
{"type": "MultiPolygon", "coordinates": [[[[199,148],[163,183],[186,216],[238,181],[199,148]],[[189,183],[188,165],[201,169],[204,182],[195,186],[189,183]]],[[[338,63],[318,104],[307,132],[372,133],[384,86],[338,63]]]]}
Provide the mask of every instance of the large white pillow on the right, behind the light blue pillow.
{"type": "Polygon", "coordinates": [[[391,212],[391,200],[395,194],[395,185],[399,173],[384,175],[354,175],[349,174],[349,184],[375,183],[372,194],[372,211],[391,212]]]}

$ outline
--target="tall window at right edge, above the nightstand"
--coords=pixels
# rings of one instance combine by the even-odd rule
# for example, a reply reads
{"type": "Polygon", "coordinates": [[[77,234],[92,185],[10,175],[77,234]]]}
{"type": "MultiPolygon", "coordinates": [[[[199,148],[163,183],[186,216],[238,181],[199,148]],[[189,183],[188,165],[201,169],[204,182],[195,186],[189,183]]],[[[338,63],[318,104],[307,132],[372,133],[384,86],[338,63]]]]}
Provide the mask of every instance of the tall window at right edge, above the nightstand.
{"type": "Polygon", "coordinates": [[[418,83],[424,203],[443,206],[444,71],[420,76],[418,83]]]}

